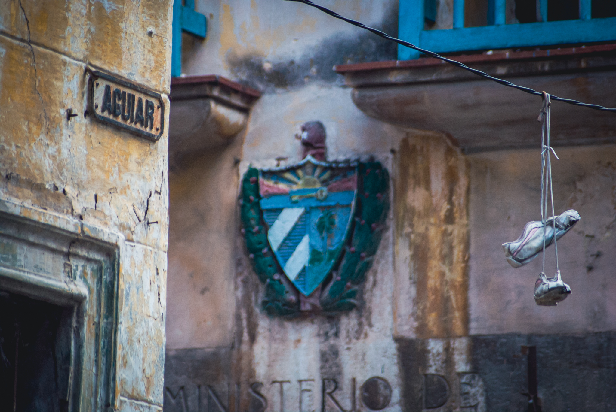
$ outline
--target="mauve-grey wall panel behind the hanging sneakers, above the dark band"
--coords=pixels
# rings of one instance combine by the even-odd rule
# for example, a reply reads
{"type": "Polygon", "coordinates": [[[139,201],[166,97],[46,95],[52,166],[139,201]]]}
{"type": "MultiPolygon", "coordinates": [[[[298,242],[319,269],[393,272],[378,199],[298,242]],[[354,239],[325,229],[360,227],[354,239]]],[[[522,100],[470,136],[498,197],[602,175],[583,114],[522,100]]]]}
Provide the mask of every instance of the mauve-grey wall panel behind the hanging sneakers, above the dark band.
{"type": "MultiPolygon", "coordinates": [[[[541,256],[513,269],[501,244],[517,239],[524,224],[538,220],[539,149],[469,156],[471,164],[470,331],[497,333],[587,333],[615,330],[612,236],[616,199],[615,146],[559,148],[552,162],[556,213],[573,208],[580,220],[558,242],[562,278],[572,295],[557,307],[532,299],[541,256]]],[[[556,271],[546,252],[546,274],[556,271]]]]}

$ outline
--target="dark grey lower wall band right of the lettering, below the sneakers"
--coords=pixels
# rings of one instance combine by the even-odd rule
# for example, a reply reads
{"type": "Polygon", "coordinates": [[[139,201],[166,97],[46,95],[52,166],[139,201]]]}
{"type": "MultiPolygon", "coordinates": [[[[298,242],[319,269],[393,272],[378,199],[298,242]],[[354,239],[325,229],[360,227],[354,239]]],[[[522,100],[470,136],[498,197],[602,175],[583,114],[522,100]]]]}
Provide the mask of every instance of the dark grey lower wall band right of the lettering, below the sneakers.
{"type": "Polygon", "coordinates": [[[527,398],[521,395],[527,389],[522,345],[537,347],[537,384],[543,410],[614,410],[616,333],[610,331],[472,337],[472,368],[484,381],[488,411],[526,408],[527,398]]]}

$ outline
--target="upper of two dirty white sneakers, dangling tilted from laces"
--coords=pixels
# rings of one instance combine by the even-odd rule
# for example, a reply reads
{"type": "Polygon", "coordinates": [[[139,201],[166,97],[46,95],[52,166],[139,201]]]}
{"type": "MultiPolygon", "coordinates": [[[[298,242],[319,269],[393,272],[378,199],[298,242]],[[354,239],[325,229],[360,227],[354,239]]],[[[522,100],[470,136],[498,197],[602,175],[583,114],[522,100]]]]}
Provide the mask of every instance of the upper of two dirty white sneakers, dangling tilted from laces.
{"type": "MultiPolygon", "coordinates": [[[[524,266],[543,250],[544,226],[545,247],[554,243],[554,223],[552,220],[552,217],[546,219],[545,225],[541,221],[529,222],[524,226],[524,231],[517,240],[503,244],[505,256],[511,266],[524,266]]],[[[573,209],[556,216],[556,240],[561,239],[579,220],[580,213],[573,209]]]]}

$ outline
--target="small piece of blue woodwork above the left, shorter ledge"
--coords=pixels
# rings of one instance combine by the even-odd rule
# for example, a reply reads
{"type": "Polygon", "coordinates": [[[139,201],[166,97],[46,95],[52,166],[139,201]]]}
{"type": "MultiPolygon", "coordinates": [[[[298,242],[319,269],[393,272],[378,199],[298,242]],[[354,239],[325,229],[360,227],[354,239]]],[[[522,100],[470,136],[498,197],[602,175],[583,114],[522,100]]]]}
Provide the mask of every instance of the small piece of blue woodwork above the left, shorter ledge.
{"type": "Polygon", "coordinates": [[[205,39],[208,32],[208,20],[205,15],[195,12],[195,0],[173,2],[171,77],[182,74],[182,31],[201,39],[205,39]]]}

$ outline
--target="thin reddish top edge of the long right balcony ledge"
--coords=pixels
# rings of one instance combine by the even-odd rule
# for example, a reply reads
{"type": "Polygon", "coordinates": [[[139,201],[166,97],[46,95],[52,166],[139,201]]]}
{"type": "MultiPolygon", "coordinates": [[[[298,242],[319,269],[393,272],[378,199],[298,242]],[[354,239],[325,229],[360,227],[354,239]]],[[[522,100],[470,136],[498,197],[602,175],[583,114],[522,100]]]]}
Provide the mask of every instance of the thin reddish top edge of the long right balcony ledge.
{"type": "MultiPolygon", "coordinates": [[[[586,53],[609,52],[616,50],[616,44],[602,44],[600,46],[566,47],[564,49],[527,50],[523,52],[494,52],[488,54],[472,54],[448,56],[448,58],[461,63],[489,63],[493,61],[522,60],[532,58],[545,58],[555,56],[580,55],[586,53]]],[[[368,63],[353,63],[350,65],[336,65],[334,71],[344,74],[351,71],[370,71],[379,69],[413,68],[445,65],[445,61],[434,57],[418,58],[415,60],[388,60],[370,61],[368,63]]]]}

